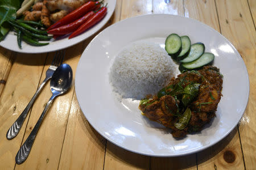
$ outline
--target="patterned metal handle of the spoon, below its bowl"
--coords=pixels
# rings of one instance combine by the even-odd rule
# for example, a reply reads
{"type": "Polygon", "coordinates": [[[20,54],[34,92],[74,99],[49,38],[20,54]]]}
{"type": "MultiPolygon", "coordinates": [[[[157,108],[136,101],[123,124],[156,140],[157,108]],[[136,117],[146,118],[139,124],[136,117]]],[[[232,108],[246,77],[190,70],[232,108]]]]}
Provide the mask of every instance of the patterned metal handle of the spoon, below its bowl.
{"type": "Polygon", "coordinates": [[[38,122],[36,122],[35,127],[31,131],[30,135],[27,137],[27,140],[23,143],[22,147],[20,147],[20,149],[15,157],[15,161],[17,164],[23,163],[27,159],[28,155],[30,154],[32,145],[35,141],[35,137],[36,137],[36,134],[38,133],[39,127],[43,121],[44,115],[46,114],[46,112],[49,108],[49,105],[52,103],[52,101],[55,97],[56,97],[56,95],[51,96],[46,107],[44,108],[43,113],[39,117],[38,122]]]}

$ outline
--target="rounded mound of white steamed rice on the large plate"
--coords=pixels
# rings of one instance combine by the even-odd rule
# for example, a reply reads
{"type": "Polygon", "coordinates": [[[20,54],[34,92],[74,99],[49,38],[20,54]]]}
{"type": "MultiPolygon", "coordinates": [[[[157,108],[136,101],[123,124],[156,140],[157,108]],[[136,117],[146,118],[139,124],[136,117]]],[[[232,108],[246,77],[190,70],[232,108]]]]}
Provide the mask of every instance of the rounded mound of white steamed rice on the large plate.
{"type": "Polygon", "coordinates": [[[114,58],[109,80],[113,90],[123,98],[141,100],[170,82],[175,76],[174,65],[158,44],[134,42],[114,58]]]}

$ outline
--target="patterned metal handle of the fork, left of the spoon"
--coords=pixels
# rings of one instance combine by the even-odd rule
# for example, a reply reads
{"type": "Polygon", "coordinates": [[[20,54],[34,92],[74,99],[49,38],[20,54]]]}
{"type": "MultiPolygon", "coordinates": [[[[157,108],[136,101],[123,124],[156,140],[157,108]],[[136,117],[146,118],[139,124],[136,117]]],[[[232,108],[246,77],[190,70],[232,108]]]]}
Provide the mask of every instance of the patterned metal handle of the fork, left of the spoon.
{"type": "Polygon", "coordinates": [[[42,88],[44,87],[44,85],[46,84],[46,82],[50,79],[51,77],[46,77],[43,82],[40,84],[38,90],[35,92],[34,96],[32,97],[32,99],[30,100],[30,103],[27,104],[27,107],[24,109],[24,111],[20,114],[20,116],[17,118],[17,120],[13,123],[13,125],[11,125],[11,128],[7,131],[6,133],[6,138],[7,139],[13,139],[14,137],[16,137],[16,135],[19,133],[23,122],[25,120],[25,118],[27,117],[27,113],[28,111],[30,111],[30,108],[32,107],[32,105],[34,104],[34,101],[36,99],[36,97],[38,97],[40,91],[42,90],[42,88]]]}

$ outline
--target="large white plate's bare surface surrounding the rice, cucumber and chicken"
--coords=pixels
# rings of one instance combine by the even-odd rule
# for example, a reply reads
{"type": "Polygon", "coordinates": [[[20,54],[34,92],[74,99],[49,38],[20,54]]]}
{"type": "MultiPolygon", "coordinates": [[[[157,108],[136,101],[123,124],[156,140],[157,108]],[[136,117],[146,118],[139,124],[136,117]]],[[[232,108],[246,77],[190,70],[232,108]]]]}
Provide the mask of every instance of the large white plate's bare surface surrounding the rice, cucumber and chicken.
{"type": "Polygon", "coordinates": [[[129,18],[98,34],[81,56],[75,84],[82,112],[98,133],[119,147],[151,156],[180,156],[214,145],[238,124],[249,97],[245,63],[225,37],[197,20],[165,14],[129,18]],[[213,65],[224,75],[216,117],[200,133],[180,140],[142,116],[139,101],[118,102],[108,74],[113,58],[124,46],[139,40],[163,46],[170,33],[187,35],[192,43],[203,42],[205,51],[215,55],[213,65]]]}

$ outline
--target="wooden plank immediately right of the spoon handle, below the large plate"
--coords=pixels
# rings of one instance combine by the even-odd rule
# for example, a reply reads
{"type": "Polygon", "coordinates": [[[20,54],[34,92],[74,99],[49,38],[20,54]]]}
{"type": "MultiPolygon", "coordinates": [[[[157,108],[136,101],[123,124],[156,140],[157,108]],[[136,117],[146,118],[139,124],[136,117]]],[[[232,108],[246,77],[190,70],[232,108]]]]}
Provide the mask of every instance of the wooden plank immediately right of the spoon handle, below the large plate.
{"type": "Polygon", "coordinates": [[[59,169],[103,169],[105,144],[82,114],[74,94],[59,169]]]}

